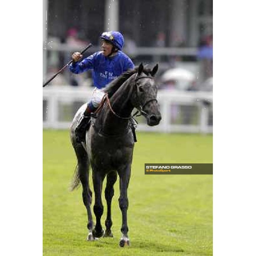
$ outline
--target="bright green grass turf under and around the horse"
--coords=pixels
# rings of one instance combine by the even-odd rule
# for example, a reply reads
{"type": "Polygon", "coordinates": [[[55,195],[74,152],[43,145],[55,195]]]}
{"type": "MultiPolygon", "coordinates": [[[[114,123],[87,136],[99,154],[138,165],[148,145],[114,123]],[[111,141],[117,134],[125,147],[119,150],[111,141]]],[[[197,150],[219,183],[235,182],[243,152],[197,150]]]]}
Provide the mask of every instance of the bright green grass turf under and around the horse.
{"type": "MultiPolygon", "coordinates": [[[[144,163],[212,163],[212,135],[137,133],[137,139],[128,189],[131,246],[121,248],[119,182],[112,204],[114,238],[85,241],[81,188],[68,190],[76,166],[69,133],[43,131],[44,256],[212,255],[212,175],[144,175],[144,163]]],[[[105,199],[103,204],[102,224],[105,199]]]]}

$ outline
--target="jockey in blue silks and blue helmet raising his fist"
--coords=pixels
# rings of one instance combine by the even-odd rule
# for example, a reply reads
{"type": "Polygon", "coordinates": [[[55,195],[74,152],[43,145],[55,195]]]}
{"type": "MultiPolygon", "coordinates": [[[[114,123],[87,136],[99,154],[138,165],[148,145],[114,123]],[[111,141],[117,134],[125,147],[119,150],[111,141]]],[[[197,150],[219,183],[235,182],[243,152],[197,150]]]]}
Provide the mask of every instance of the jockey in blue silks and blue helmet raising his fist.
{"type": "Polygon", "coordinates": [[[84,140],[85,130],[90,120],[90,113],[93,113],[99,107],[105,95],[100,89],[104,88],[128,69],[134,69],[134,63],[122,52],[124,38],[120,32],[103,32],[100,38],[102,39],[102,51],[95,52],[82,61],[80,61],[82,58],[81,53],[74,52],[72,54],[73,62],[69,66],[70,71],[75,74],[93,70],[93,84],[95,86],[91,100],[87,104],[87,108],[75,129],[78,142],[84,140]]]}

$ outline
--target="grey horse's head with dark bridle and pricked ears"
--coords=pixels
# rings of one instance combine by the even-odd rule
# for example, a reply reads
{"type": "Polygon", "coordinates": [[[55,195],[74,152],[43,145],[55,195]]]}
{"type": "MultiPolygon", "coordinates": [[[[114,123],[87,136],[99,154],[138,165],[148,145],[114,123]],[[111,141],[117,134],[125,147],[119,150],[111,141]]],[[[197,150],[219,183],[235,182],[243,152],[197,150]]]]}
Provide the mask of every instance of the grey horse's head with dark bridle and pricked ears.
{"type": "Polygon", "coordinates": [[[157,73],[158,65],[152,70],[144,70],[141,63],[134,78],[134,90],[131,103],[147,119],[150,126],[158,125],[161,120],[161,113],[157,104],[157,84],[154,75],[157,73]],[[144,71],[144,72],[143,72],[144,71]]]}

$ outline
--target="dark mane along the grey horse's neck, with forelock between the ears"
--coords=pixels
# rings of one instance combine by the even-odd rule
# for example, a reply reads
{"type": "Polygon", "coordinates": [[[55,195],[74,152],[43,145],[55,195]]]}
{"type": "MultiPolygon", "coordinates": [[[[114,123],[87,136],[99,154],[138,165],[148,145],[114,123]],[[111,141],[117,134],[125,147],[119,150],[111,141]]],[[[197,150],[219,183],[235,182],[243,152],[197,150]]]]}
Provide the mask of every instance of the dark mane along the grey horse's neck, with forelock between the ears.
{"type": "MultiPolygon", "coordinates": [[[[128,78],[137,73],[138,68],[139,67],[135,67],[132,70],[127,70],[126,72],[122,73],[122,75],[111,81],[104,89],[102,89],[102,91],[108,93],[108,97],[111,98],[111,96],[113,96],[113,94],[128,78]]],[[[144,67],[143,69],[143,73],[145,73],[147,76],[150,74],[150,71],[150,68],[144,67]]]]}

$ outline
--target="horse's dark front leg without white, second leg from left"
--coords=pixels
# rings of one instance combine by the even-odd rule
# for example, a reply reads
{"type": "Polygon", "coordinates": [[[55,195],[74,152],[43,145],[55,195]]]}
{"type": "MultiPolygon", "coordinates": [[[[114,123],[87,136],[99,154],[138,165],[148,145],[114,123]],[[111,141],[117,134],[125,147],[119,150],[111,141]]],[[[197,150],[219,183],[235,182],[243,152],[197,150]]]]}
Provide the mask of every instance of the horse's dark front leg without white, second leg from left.
{"type": "Polygon", "coordinates": [[[95,193],[95,203],[93,206],[93,212],[96,216],[96,225],[93,229],[93,236],[94,237],[101,237],[103,236],[104,230],[102,229],[101,225],[101,217],[103,214],[103,204],[102,204],[102,183],[104,180],[105,175],[101,174],[97,169],[93,168],[93,188],[95,193]]]}

